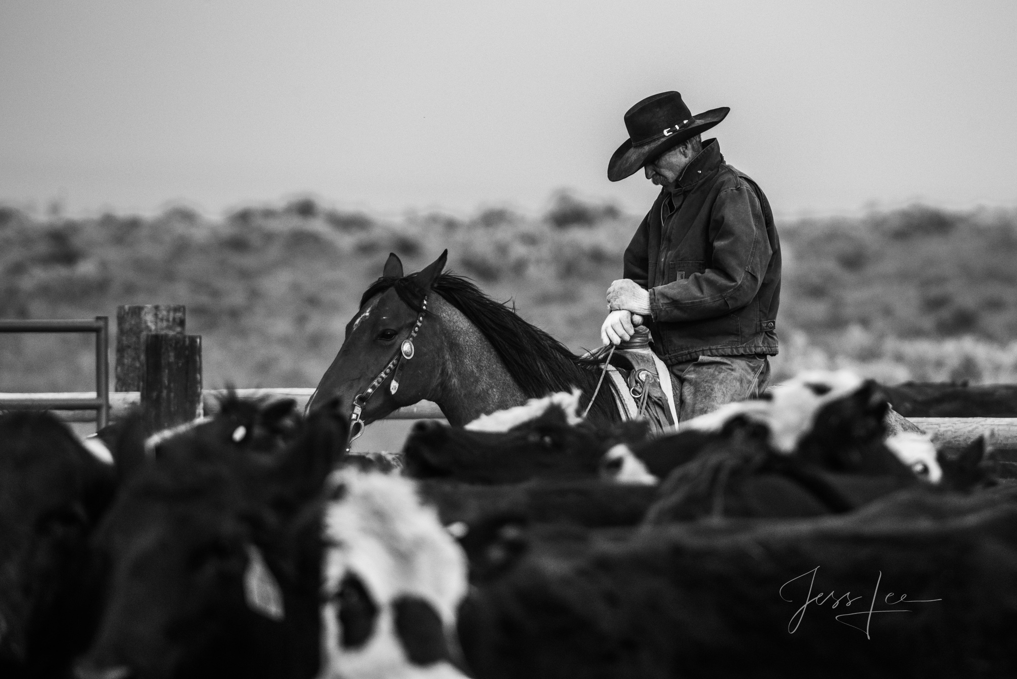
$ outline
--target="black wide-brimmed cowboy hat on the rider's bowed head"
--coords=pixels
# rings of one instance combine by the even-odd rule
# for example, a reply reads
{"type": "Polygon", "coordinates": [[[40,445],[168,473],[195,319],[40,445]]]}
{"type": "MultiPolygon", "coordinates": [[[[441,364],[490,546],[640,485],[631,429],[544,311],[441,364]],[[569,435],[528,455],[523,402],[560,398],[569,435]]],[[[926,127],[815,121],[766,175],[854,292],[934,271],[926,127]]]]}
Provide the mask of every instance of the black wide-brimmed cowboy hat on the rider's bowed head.
{"type": "Polygon", "coordinates": [[[676,91],[647,97],[625,111],[629,138],[611,156],[607,178],[612,182],[624,179],[664,151],[707,131],[722,121],[728,111],[729,108],[722,106],[694,116],[676,91]]]}

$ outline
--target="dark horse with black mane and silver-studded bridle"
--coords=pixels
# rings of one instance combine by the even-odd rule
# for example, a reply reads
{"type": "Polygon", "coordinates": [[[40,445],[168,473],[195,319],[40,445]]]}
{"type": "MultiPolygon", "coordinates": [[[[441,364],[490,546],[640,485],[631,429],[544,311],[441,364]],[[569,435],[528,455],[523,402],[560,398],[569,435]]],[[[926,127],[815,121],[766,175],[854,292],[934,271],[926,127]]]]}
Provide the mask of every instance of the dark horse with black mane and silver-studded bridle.
{"type": "Polygon", "coordinates": [[[573,354],[464,276],[444,272],[448,251],[416,273],[390,254],[364,292],[346,338],[308,411],[338,403],[351,437],[399,408],[432,400],[453,426],[573,387],[597,425],[621,421],[603,355],[573,354]],[[596,392],[596,393],[595,393],[596,392]],[[592,405],[590,404],[593,398],[592,405]]]}

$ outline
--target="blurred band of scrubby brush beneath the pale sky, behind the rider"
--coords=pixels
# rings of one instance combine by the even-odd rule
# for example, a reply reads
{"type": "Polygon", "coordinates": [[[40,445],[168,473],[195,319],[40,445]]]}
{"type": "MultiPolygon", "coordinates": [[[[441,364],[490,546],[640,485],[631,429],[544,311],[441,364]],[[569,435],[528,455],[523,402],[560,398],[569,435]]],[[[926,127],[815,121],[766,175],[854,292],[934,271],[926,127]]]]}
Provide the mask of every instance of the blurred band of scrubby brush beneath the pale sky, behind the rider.
{"type": "MultiPolygon", "coordinates": [[[[206,388],[314,386],[388,252],[450,268],[573,351],[599,345],[604,293],[641,217],[551,196],[507,208],[384,220],[311,197],[223,219],[187,207],[92,219],[0,207],[0,318],[115,317],[187,305],[206,388]]],[[[850,367],[886,382],[1017,381],[1017,210],[922,205],[778,222],[784,275],[774,379],[850,367]]],[[[0,335],[0,391],[92,387],[87,336],[0,335]]]]}

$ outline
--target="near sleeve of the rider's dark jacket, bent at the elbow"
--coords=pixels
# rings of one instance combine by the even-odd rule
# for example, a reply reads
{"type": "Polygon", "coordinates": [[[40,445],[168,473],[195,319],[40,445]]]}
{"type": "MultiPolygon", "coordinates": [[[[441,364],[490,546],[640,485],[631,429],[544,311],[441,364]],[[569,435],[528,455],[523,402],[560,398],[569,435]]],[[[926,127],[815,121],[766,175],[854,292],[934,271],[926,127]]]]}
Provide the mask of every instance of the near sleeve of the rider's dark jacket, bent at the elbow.
{"type": "Polygon", "coordinates": [[[750,186],[717,195],[710,241],[713,258],[705,271],[650,289],[654,320],[673,323],[723,316],[756,297],[773,253],[759,198],[750,186]]]}

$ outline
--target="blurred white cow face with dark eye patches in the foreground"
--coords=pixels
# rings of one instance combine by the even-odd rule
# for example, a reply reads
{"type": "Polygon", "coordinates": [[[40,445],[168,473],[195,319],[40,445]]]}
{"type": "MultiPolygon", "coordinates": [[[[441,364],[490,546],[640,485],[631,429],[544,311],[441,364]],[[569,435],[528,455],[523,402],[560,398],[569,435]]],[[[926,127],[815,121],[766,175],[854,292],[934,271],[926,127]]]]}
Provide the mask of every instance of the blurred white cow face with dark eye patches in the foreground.
{"type": "Polygon", "coordinates": [[[461,677],[452,657],[467,573],[456,541],[406,479],[346,470],[330,483],[319,677],[461,677]]]}

